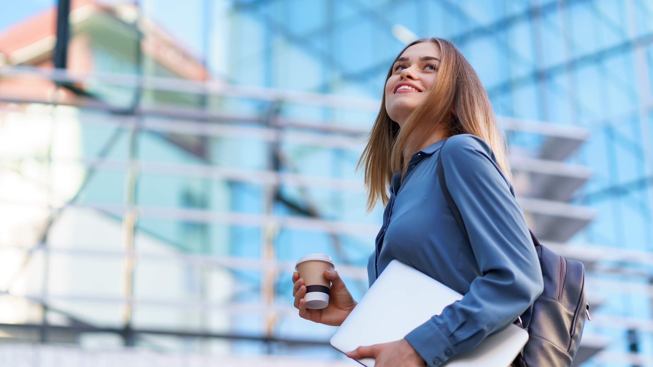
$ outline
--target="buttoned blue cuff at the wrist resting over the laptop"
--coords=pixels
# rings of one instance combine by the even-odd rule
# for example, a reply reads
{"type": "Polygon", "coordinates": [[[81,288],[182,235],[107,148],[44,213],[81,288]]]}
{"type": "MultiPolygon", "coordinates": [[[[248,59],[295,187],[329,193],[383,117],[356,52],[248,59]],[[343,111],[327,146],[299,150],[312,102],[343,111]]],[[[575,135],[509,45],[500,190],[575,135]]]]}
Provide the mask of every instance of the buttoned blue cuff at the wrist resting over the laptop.
{"type": "Polygon", "coordinates": [[[438,367],[456,353],[456,349],[432,320],[415,328],[405,338],[428,367],[438,367]]]}

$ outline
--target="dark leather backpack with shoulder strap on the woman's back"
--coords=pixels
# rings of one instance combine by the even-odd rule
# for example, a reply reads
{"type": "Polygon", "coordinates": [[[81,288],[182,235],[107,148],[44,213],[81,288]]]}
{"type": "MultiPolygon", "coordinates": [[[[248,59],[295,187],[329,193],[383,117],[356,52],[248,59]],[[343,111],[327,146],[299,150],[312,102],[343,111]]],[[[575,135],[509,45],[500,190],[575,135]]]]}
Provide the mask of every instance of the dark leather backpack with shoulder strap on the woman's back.
{"type": "MultiPolygon", "coordinates": [[[[442,148],[438,155],[440,187],[460,231],[470,244],[460,210],[447,188],[441,157],[442,148]]],[[[581,344],[585,317],[590,316],[584,289],[585,268],[580,261],[564,259],[542,246],[532,231],[530,234],[542,268],[544,291],[515,322],[528,330],[529,338],[512,366],[569,367],[581,344]]]]}

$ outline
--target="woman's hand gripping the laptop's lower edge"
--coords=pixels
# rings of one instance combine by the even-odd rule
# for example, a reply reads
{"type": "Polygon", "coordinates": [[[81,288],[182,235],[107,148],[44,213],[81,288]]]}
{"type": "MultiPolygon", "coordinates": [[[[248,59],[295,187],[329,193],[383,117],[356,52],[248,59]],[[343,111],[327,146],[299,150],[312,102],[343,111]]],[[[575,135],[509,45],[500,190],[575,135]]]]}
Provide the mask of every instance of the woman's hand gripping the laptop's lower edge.
{"type": "Polygon", "coordinates": [[[345,353],[353,359],[374,358],[374,367],[424,367],[424,359],[406,340],[358,347],[345,353]]]}

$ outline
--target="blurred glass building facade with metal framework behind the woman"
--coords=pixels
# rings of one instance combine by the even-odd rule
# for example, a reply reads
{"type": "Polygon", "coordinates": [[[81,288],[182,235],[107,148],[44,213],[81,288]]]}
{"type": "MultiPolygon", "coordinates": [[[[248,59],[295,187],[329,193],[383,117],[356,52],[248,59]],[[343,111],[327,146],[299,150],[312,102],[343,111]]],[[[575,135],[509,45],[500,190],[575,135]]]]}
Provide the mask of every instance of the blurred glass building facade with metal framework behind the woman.
{"type": "Polygon", "coordinates": [[[342,359],[296,315],[291,272],[329,253],[364,294],[382,208],[355,167],[390,62],[428,29],[509,116],[529,226],[586,266],[575,365],[653,365],[649,3],[202,5],[203,57],[155,2],[62,0],[0,33],[2,340],[342,359]]]}

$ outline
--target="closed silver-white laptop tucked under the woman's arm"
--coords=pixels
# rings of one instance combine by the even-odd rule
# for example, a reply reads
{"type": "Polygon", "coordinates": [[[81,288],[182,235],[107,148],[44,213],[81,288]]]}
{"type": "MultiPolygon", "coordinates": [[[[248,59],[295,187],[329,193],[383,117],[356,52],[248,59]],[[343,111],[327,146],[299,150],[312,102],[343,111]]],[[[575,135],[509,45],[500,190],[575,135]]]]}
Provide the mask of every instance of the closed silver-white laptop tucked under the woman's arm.
{"type": "MultiPolygon", "coordinates": [[[[393,260],[343,321],[331,345],[343,353],[361,345],[400,340],[462,295],[410,266],[393,260]]],[[[528,341],[528,332],[508,325],[469,351],[458,353],[443,366],[507,367],[528,341]]],[[[360,359],[374,366],[374,359],[360,359]]]]}

